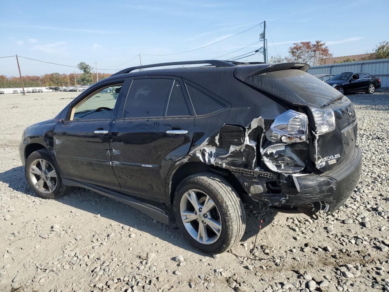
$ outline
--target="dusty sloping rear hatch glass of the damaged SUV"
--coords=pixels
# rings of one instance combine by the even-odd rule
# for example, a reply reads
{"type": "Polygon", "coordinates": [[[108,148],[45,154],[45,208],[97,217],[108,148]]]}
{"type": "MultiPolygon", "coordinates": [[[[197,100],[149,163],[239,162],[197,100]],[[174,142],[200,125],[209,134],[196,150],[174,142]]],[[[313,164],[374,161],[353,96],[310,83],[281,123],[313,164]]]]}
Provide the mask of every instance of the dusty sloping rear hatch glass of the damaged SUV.
{"type": "Polygon", "coordinates": [[[341,95],[331,85],[298,69],[256,74],[241,81],[276,95],[286,102],[303,106],[323,107],[341,95]]]}

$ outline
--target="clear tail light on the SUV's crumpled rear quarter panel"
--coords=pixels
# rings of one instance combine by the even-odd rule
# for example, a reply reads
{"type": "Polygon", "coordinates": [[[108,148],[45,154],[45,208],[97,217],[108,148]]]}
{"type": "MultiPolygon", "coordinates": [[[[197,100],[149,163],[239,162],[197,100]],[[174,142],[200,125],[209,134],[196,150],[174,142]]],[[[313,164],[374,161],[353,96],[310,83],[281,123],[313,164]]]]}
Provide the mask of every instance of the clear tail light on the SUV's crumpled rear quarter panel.
{"type": "Polygon", "coordinates": [[[266,138],[273,142],[294,143],[307,141],[308,118],[296,111],[286,111],[274,119],[266,138]]]}

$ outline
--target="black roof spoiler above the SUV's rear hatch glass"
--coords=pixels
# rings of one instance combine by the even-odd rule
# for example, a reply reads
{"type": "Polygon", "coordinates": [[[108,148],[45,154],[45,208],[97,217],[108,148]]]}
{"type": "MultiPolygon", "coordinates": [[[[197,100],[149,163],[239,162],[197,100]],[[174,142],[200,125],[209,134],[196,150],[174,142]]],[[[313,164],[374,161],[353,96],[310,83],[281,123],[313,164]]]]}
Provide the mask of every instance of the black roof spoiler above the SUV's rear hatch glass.
{"type": "Polygon", "coordinates": [[[307,71],[309,65],[306,63],[276,63],[276,64],[255,64],[255,65],[244,65],[237,66],[235,69],[234,76],[240,80],[244,80],[247,77],[265,74],[272,71],[288,70],[288,69],[298,69],[307,71]]]}

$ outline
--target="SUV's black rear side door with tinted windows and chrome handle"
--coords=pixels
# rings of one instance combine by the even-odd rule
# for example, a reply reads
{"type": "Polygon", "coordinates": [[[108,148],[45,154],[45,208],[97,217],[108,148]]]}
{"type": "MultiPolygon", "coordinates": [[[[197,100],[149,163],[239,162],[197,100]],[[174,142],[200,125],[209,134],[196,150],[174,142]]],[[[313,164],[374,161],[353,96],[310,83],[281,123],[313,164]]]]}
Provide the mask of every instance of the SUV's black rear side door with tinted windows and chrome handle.
{"type": "Polygon", "coordinates": [[[112,165],[122,191],[164,201],[166,175],[187,155],[193,125],[182,80],[135,77],[111,128],[112,165]]]}

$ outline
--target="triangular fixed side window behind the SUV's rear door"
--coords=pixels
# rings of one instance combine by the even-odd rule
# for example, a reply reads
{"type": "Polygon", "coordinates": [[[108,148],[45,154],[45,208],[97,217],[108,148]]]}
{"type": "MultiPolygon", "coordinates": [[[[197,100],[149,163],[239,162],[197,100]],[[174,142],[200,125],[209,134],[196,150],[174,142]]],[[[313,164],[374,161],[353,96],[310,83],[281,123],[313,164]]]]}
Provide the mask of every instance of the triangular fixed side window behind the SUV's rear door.
{"type": "Polygon", "coordinates": [[[192,101],[196,115],[210,114],[224,108],[224,105],[216,98],[206,94],[203,90],[186,83],[189,97],[192,101]]]}

